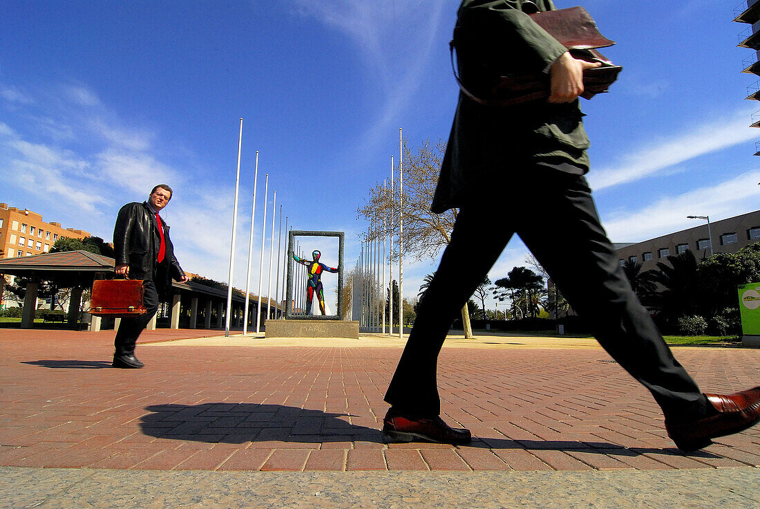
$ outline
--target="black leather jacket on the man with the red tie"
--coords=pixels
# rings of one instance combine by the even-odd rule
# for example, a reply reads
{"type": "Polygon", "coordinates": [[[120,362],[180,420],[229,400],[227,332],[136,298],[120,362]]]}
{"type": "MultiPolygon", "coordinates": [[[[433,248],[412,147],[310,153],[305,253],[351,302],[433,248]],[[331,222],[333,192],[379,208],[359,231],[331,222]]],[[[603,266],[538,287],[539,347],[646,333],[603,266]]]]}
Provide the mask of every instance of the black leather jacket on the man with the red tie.
{"type": "MultiPolygon", "coordinates": [[[[163,218],[161,220],[163,222],[163,218]]],[[[161,267],[156,262],[160,237],[156,216],[147,202],[132,202],[124,205],[116,217],[113,228],[113,250],[116,265],[128,265],[129,277],[147,279],[156,283],[157,288],[169,288],[170,278],[179,280],[185,272],[179,266],[174,247],[169,239],[169,225],[163,223],[166,250],[161,267]],[[162,270],[158,270],[158,269],[162,270]]]]}

